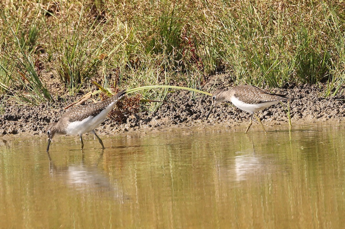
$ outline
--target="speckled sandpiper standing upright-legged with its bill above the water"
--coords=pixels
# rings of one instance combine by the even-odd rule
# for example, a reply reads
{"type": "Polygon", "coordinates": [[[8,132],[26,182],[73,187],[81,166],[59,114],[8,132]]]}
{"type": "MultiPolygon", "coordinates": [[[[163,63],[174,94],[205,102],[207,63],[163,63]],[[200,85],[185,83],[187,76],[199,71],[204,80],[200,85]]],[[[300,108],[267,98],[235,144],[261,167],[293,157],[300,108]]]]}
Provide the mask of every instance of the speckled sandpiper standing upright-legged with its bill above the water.
{"type": "Polygon", "coordinates": [[[228,91],[217,90],[212,94],[212,104],[210,111],[207,114],[206,120],[210,115],[212,109],[220,102],[230,101],[236,107],[241,110],[251,113],[250,122],[245,133],[248,132],[253,122],[253,114],[257,120],[261,123],[262,128],[266,132],[264,125],[261,120],[255,114],[256,111],[263,110],[269,106],[272,106],[280,101],[287,100],[288,97],[285,95],[278,95],[268,93],[261,88],[252,85],[240,85],[231,87],[228,91]]]}

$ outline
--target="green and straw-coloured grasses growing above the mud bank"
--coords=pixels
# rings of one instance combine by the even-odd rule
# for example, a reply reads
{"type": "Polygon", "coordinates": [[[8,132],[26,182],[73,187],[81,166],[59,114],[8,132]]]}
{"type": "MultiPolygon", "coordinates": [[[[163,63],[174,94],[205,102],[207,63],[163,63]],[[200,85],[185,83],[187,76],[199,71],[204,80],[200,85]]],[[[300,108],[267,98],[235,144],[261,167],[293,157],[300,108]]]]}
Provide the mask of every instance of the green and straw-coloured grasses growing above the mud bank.
{"type": "MultiPolygon", "coordinates": [[[[2,0],[0,7],[2,104],[61,96],[47,87],[49,74],[70,95],[92,80],[203,90],[220,72],[236,85],[320,84],[325,97],[343,94],[342,1],[2,0]]],[[[161,100],[166,92],[143,93],[161,100]]]]}

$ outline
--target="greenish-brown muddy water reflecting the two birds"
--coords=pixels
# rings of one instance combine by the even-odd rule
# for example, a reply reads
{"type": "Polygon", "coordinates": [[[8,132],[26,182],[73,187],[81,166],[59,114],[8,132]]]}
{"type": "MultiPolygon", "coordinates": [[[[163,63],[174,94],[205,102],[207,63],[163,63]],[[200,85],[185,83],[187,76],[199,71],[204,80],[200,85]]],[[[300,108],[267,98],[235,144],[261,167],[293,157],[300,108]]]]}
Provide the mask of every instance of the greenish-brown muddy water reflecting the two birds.
{"type": "Polygon", "coordinates": [[[0,228],[343,228],[345,128],[279,128],[3,140],[0,228]]]}

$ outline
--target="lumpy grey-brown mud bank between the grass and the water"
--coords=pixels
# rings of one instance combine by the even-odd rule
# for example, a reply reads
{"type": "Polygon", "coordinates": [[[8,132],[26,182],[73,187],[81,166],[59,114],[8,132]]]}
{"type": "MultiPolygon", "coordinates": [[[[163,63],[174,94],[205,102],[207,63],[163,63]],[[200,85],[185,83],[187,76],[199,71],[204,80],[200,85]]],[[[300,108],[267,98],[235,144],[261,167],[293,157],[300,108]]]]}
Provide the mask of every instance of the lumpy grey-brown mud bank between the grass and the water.
{"type": "MultiPolygon", "coordinates": [[[[209,92],[229,87],[231,87],[231,84],[225,84],[225,82],[206,85],[209,92]]],[[[267,89],[269,92],[284,94],[289,97],[293,124],[342,121],[345,117],[345,100],[342,98],[325,98],[323,90],[324,88],[320,85],[294,85],[286,89],[267,89]]],[[[58,121],[60,116],[66,112],[63,108],[78,98],[65,97],[63,100],[60,99],[54,103],[42,103],[33,107],[14,105],[6,107],[4,114],[0,115],[0,135],[42,134],[50,122],[58,121]]],[[[193,98],[191,93],[185,90],[175,90],[175,92],[169,93],[166,101],[174,106],[163,104],[154,113],[148,113],[145,110],[140,111],[129,116],[123,123],[117,123],[106,118],[96,131],[102,135],[137,130],[140,130],[139,132],[159,131],[183,127],[235,127],[244,125],[250,117],[249,113],[232,106],[231,103],[221,103],[213,109],[208,120],[205,120],[210,108],[211,97],[199,94],[193,98]]],[[[264,125],[274,127],[288,122],[286,109],[287,102],[278,103],[257,112],[257,115],[262,119],[264,125]]],[[[255,123],[256,121],[254,121],[255,123]]]]}

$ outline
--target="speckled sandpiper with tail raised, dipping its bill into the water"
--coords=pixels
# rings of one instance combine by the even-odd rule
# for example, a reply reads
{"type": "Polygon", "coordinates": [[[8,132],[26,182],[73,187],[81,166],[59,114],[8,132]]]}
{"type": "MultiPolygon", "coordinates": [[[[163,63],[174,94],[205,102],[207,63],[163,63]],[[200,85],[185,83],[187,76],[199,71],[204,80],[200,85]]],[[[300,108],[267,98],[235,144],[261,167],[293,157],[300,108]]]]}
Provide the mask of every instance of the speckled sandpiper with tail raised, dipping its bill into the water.
{"type": "Polygon", "coordinates": [[[95,128],[104,121],[111,109],[125,94],[126,90],[123,90],[101,102],[79,106],[62,114],[58,122],[50,123],[46,128],[49,138],[47,151],[49,151],[50,142],[55,134],[79,134],[81,149],[83,149],[84,143],[81,135],[87,132],[95,134],[104,149],[102,140],[95,133],[95,128]]]}

